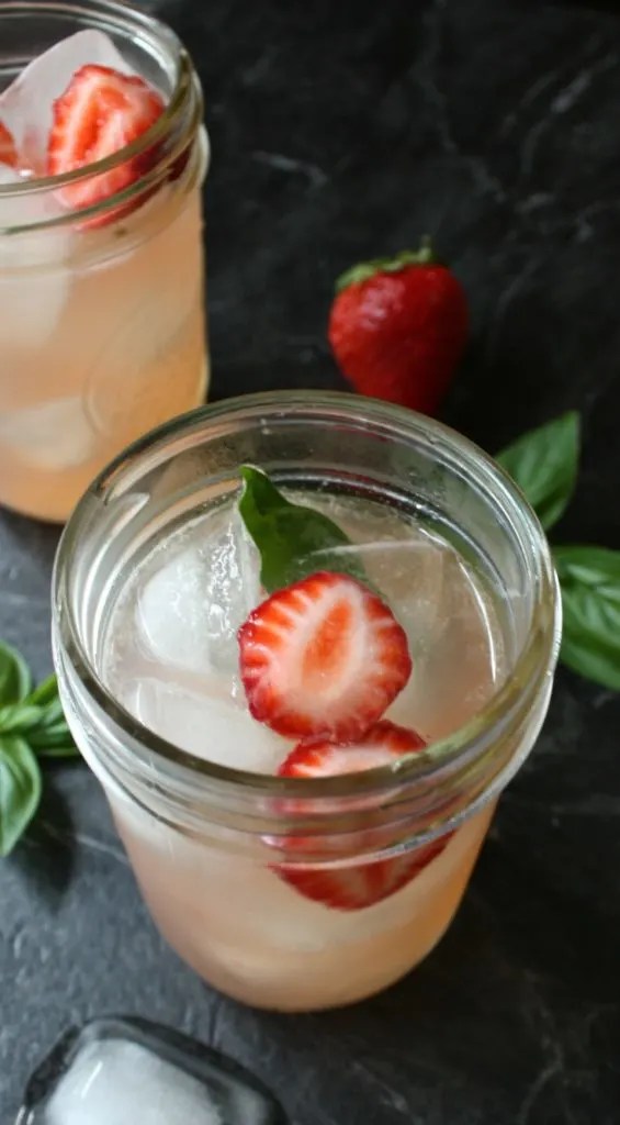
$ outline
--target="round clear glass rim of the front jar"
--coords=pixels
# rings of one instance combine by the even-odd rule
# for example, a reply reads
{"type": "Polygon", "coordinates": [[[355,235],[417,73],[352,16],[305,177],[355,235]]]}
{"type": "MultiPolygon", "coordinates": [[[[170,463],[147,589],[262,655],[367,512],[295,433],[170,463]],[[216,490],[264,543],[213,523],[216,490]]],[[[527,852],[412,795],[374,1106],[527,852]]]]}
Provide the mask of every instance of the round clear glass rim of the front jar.
{"type": "Polygon", "coordinates": [[[444,423],[393,404],[340,392],[279,390],[244,395],[199,407],[135,441],[95,477],[69,519],[54,565],[53,612],[60,621],[61,640],[73,673],[99,709],[119,728],[127,746],[137,744],[138,747],[146,747],[149,760],[155,754],[162,766],[189,770],[193,777],[200,776],[204,782],[231,788],[236,792],[259,791],[262,795],[279,798],[294,794],[295,798],[334,799],[359,796],[371,791],[381,792],[393,788],[394,783],[408,785],[421,780],[438,778],[446,770],[450,771],[455,765],[471,760],[472,756],[477,758],[480,754],[487,753],[495,745],[502,728],[517,713],[521,713],[523,703],[529,706],[530,685],[540,685],[548,680],[557,662],[560,634],[557,579],[545,533],[526,497],[498,462],[444,423]],[[323,778],[276,777],[218,765],[180,749],[145,727],[115,699],[102,682],[82,642],[67,591],[67,575],[72,560],[80,550],[82,526],[92,513],[93,502],[106,504],[113,498],[116,492],[122,493],[124,486],[135,484],[140,476],[140,466],[149,453],[165,459],[165,451],[170,452],[177,436],[185,436],[192,431],[201,433],[225,417],[238,418],[245,415],[264,421],[271,415],[272,421],[277,415],[290,417],[295,410],[307,413],[310,411],[314,416],[323,416],[326,421],[331,417],[350,423],[358,417],[363,423],[382,426],[386,434],[391,431],[393,435],[403,431],[410,435],[430,431],[456,457],[476,464],[504,502],[512,505],[513,512],[523,522],[526,538],[531,544],[540,574],[527,638],[510,675],[478,712],[450,735],[429,744],[422,753],[404,756],[393,764],[363,773],[323,778]]]}

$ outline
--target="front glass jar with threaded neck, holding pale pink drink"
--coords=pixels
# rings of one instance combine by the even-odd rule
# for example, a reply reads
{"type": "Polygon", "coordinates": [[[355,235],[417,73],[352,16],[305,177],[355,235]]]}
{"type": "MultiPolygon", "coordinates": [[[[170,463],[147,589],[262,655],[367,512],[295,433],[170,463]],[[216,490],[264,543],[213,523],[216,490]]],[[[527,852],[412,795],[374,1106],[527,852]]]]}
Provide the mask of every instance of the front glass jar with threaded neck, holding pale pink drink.
{"type": "MultiPolygon", "coordinates": [[[[560,632],[545,536],[505,474],[427,417],[350,395],[256,395],[134,444],[90,487],[60,544],[58,685],[162,933],[224,992],[308,1010],[391,984],[438,942],[495,802],[532,748],[560,632]],[[101,678],[101,638],[136,561],[255,464],[292,487],[373,497],[450,539],[492,598],[507,651],[496,693],[426,753],[346,776],[259,776],[147,730],[101,678]],[[306,900],[273,870],[361,868],[449,839],[409,885],[363,910],[306,900]]],[[[208,738],[208,732],[206,732],[208,738]]]]}

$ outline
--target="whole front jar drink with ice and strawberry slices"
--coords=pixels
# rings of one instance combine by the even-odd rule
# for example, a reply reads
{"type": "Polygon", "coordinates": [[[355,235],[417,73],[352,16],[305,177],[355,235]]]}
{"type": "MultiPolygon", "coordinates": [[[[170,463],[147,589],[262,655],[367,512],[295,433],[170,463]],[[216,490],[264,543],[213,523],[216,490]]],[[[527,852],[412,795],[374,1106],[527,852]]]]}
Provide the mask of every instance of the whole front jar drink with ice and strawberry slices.
{"type": "MultiPolygon", "coordinates": [[[[545,718],[558,630],[545,538],[502,471],[428,418],[338,395],[256,396],[145,439],[78,506],[55,574],[63,703],[154,918],[210,983],[283,1010],[368,996],[441,937],[545,718]],[[247,462],[347,540],[270,601],[238,508],[247,462]],[[353,557],[362,585],[339,573],[353,557]],[[402,633],[412,670],[363,736],[295,748],[271,726],[274,698],[286,704],[271,665],[250,714],[248,621],[268,647],[257,623],[302,588],[275,632],[289,667],[303,642],[307,675],[308,591],[332,583],[325,713],[341,703],[334,628],[350,592],[373,606],[380,592],[393,620],[377,628],[402,633]]],[[[346,650],[362,711],[373,645],[346,650]]]]}

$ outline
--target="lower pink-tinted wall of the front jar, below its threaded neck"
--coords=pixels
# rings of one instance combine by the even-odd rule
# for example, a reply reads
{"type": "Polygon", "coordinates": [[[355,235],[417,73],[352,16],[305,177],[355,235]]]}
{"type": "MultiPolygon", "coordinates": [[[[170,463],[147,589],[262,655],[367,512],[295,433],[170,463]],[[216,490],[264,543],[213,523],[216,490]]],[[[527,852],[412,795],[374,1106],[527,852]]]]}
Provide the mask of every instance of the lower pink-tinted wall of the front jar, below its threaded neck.
{"type": "Polygon", "coordinates": [[[170,945],[222,992],[281,1011],[353,1004],[419,964],[458,908],[494,811],[464,824],[395,894],[344,911],[303,898],[258,861],[192,840],[118,796],[110,804],[170,945]]]}

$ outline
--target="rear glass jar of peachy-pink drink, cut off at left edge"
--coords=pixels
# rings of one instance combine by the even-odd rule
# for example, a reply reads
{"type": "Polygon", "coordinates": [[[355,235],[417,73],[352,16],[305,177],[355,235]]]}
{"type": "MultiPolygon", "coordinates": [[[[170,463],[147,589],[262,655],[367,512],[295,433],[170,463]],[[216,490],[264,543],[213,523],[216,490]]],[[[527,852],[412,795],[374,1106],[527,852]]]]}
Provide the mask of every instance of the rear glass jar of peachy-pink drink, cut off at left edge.
{"type": "MultiPolygon", "coordinates": [[[[113,156],[46,178],[46,104],[19,137],[33,151],[33,174],[18,179],[0,164],[0,503],[52,521],[66,519],[129,441],[201,403],[208,381],[201,186],[209,148],[200,83],[174,33],[106,0],[13,0],[0,8],[0,91],[85,29],[109,36],[166,108],[113,156]],[[93,172],[111,176],[129,160],[143,169],[135,182],[88,209],[67,206],[69,186],[74,199],[93,172]]],[[[80,61],[107,58],[100,43],[81,51],[88,57],[78,52],[74,64],[56,56],[49,100],[80,61]]],[[[17,142],[15,104],[0,105],[0,120],[17,142]]]]}

